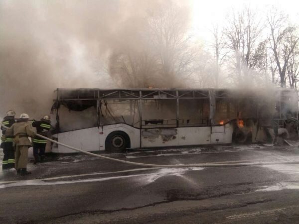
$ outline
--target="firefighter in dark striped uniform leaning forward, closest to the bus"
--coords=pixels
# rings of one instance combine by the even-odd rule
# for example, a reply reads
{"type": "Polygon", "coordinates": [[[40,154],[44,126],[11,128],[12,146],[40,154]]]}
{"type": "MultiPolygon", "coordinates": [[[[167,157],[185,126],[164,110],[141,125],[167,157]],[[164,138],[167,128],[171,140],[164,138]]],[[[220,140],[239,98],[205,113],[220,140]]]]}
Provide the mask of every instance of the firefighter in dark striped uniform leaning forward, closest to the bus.
{"type": "MultiPolygon", "coordinates": [[[[50,116],[45,115],[39,121],[33,121],[32,126],[36,127],[36,132],[40,135],[48,137],[48,132],[51,129],[50,116]]],[[[35,163],[43,162],[45,158],[47,140],[35,136],[33,139],[33,156],[35,158],[35,163]]]]}

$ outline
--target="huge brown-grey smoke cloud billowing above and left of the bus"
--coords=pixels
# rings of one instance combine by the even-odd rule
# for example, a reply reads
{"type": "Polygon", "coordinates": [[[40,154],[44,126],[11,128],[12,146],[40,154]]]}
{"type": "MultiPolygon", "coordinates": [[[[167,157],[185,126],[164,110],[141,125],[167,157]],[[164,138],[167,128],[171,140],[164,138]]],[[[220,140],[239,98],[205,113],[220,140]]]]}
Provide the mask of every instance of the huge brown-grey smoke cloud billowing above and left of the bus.
{"type": "Polygon", "coordinates": [[[213,87],[182,2],[1,0],[0,117],[13,109],[39,119],[56,88],[213,87]]]}

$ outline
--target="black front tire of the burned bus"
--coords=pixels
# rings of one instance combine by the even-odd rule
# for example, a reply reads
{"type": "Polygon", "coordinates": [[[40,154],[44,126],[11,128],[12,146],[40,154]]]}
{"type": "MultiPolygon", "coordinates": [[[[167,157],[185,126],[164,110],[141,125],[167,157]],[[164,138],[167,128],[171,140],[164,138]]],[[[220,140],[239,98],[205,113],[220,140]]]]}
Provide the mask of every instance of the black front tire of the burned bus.
{"type": "Polygon", "coordinates": [[[108,153],[124,152],[127,147],[130,147],[130,138],[123,131],[114,131],[106,138],[105,150],[108,153]]]}

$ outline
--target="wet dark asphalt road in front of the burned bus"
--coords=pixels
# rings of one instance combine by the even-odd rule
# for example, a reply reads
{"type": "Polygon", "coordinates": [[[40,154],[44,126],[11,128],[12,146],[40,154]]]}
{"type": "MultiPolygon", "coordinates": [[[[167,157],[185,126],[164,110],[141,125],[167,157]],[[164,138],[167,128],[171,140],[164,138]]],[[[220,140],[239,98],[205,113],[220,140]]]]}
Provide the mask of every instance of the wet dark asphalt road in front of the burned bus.
{"type": "MultiPolygon", "coordinates": [[[[271,145],[110,154],[154,164],[299,161],[271,145]]],[[[148,168],[86,155],[0,172],[0,223],[299,223],[299,164],[148,168]]]]}

